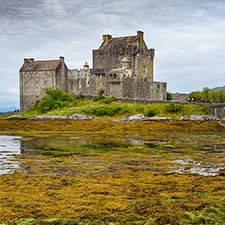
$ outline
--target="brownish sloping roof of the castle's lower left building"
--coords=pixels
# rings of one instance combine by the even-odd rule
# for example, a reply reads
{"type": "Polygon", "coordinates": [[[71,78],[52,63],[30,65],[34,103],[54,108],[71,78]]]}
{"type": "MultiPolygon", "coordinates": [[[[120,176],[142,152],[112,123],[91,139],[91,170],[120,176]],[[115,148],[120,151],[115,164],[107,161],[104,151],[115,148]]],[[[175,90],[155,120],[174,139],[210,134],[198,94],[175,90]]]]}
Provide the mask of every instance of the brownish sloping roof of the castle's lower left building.
{"type": "Polygon", "coordinates": [[[23,64],[20,72],[55,71],[60,63],[60,60],[28,61],[23,64]]]}

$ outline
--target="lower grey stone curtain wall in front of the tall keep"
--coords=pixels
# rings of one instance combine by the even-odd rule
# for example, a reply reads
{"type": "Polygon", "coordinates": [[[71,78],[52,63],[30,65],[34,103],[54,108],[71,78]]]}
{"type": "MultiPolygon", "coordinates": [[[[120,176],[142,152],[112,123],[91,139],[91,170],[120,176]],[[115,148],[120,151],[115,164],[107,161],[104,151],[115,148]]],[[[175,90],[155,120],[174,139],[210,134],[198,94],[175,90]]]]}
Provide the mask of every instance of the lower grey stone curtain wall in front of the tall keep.
{"type": "MultiPolygon", "coordinates": [[[[112,75],[112,74],[111,74],[112,75]]],[[[153,82],[151,78],[127,76],[112,77],[110,74],[92,75],[90,70],[68,71],[68,92],[74,95],[114,96],[125,99],[143,99],[164,101],[166,99],[166,83],[153,82]]]]}

